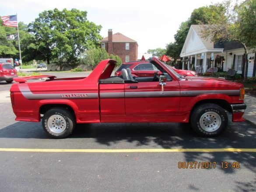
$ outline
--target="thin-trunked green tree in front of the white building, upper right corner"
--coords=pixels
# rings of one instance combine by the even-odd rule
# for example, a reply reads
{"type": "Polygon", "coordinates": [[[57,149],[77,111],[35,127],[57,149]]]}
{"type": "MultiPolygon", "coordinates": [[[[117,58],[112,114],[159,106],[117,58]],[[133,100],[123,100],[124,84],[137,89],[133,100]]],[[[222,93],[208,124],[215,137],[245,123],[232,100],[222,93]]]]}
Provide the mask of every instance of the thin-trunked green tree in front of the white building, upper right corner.
{"type": "Polygon", "coordinates": [[[204,38],[213,42],[236,41],[243,46],[245,59],[244,81],[248,73],[248,49],[256,48],[256,30],[251,22],[256,18],[256,1],[246,0],[241,4],[231,5],[231,1],[220,3],[225,7],[225,16],[212,25],[203,25],[201,32],[204,38]]]}

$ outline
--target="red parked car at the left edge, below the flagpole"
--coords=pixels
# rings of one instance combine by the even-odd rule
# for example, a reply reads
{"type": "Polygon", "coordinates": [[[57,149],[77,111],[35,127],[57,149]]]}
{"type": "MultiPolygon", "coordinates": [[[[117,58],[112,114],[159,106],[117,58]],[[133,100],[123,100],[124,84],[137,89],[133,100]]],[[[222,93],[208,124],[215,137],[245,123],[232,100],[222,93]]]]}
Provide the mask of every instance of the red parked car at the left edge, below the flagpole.
{"type": "Polygon", "coordinates": [[[5,80],[7,83],[11,83],[14,77],[18,77],[17,70],[10,64],[0,63],[0,81],[5,80]]]}

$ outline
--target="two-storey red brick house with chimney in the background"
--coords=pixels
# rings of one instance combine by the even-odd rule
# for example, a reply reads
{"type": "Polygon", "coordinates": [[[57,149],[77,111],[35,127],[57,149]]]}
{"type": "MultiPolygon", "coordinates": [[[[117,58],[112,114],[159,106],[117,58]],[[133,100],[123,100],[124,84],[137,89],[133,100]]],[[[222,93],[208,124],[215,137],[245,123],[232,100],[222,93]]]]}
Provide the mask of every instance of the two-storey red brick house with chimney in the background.
{"type": "Polygon", "coordinates": [[[122,62],[136,61],[138,56],[138,43],[121,33],[112,34],[109,29],[109,36],[101,41],[101,48],[106,49],[109,54],[114,54],[122,59],[122,62]]]}

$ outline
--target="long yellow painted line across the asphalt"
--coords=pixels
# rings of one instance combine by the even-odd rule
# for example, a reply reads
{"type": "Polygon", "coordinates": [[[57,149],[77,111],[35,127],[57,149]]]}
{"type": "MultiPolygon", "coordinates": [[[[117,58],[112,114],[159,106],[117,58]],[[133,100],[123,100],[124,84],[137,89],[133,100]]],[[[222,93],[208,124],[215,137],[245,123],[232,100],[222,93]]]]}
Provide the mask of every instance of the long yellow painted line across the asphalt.
{"type": "Polygon", "coordinates": [[[221,149],[21,149],[0,148],[11,152],[50,152],[50,153],[166,153],[166,152],[256,152],[256,149],[221,148],[221,149]]]}

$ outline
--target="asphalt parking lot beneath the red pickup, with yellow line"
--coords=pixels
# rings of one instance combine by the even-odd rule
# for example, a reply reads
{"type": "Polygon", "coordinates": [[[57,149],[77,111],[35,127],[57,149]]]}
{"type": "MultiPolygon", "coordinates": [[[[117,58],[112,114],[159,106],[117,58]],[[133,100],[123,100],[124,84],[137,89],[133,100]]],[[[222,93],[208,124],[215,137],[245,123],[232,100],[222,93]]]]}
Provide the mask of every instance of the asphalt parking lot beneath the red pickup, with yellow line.
{"type": "Polygon", "coordinates": [[[0,191],[256,191],[256,126],[248,121],[229,122],[214,138],[182,123],[107,123],[56,140],[41,122],[14,120],[10,86],[0,84],[0,191]]]}

